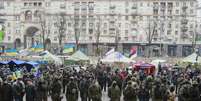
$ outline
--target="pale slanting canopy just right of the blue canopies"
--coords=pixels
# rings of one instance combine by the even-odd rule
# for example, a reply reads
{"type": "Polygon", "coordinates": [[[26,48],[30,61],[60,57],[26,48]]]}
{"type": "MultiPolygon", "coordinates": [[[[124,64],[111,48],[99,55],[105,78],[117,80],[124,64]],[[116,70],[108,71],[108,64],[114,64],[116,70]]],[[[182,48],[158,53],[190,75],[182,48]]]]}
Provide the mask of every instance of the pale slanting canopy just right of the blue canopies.
{"type": "Polygon", "coordinates": [[[42,57],[43,60],[54,62],[55,64],[62,64],[62,60],[60,58],[51,54],[48,51],[41,52],[40,56],[42,57]]]}

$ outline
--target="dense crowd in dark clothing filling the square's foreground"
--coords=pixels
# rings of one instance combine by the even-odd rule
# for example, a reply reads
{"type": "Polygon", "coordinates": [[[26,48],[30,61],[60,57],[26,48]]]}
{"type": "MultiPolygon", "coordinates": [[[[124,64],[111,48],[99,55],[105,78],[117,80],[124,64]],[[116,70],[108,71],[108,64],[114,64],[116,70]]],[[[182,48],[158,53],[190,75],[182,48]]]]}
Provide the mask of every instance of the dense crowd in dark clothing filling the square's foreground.
{"type": "MultiPolygon", "coordinates": [[[[5,68],[5,67],[4,67],[5,68]]],[[[118,69],[99,63],[97,66],[67,68],[53,64],[39,68],[40,77],[24,72],[13,79],[0,69],[0,101],[201,101],[200,69],[162,69],[156,76],[140,71],[118,69]],[[132,72],[129,72],[132,71],[132,72]],[[65,96],[63,96],[65,95],[65,96]]],[[[5,69],[4,69],[5,70],[5,69]]],[[[9,71],[6,69],[6,71],[9,71]]]]}

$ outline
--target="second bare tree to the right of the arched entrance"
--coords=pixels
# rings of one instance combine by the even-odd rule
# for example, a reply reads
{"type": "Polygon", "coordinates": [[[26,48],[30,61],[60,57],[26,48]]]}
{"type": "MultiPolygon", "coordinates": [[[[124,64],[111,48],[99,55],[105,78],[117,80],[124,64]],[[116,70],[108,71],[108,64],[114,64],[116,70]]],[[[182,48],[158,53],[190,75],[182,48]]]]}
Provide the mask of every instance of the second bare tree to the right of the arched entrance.
{"type": "Polygon", "coordinates": [[[60,13],[57,16],[57,28],[58,28],[58,38],[59,38],[59,53],[63,53],[62,49],[62,42],[63,42],[63,37],[65,37],[65,32],[66,32],[66,16],[65,13],[60,13]]]}

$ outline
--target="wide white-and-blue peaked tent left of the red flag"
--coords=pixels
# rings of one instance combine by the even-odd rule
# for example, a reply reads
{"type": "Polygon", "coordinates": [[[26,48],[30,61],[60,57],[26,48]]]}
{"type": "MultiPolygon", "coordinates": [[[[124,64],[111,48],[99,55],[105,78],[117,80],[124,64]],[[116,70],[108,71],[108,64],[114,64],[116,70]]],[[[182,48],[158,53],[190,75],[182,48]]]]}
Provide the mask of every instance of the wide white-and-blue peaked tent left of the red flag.
{"type": "Polygon", "coordinates": [[[123,63],[129,63],[129,62],[135,62],[126,56],[124,56],[120,52],[113,52],[109,55],[107,55],[105,58],[101,59],[102,62],[123,62],[123,63]]]}

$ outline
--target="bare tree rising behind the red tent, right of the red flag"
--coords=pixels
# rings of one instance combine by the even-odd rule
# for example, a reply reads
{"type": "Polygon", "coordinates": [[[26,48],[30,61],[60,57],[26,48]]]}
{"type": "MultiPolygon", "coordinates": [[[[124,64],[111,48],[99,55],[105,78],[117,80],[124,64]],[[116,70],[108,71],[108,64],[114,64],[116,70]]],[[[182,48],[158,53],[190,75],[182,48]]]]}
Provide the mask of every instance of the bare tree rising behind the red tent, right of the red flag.
{"type": "Polygon", "coordinates": [[[157,23],[154,20],[148,21],[148,28],[146,30],[146,36],[147,36],[147,41],[148,41],[148,57],[150,57],[151,53],[151,44],[154,38],[154,35],[156,34],[156,28],[157,28],[157,23]]]}

